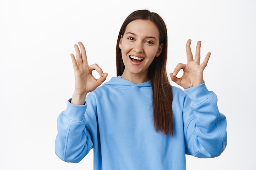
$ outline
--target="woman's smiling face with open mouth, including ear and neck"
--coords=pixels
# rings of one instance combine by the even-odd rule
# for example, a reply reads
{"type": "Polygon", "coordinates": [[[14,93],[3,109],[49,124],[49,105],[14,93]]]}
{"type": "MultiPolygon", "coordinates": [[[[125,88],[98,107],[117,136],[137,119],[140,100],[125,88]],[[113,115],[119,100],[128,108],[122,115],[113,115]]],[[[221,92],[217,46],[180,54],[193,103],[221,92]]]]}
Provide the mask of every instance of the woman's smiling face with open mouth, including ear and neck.
{"type": "Polygon", "coordinates": [[[134,78],[148,81],[148,67],[162,52],[159,45],[159,31],[150,20],[133,20],[126,26],[119,41],[124,62],[124,79],[134,78]]]}

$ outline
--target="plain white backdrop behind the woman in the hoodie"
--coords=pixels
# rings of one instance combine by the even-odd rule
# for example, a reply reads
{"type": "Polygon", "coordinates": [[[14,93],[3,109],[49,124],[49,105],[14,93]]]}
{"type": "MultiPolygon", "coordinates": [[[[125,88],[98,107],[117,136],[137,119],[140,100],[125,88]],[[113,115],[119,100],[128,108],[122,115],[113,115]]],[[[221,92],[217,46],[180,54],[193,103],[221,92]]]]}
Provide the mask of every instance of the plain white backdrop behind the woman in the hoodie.
{"type": "MultiPolygon", "coordinates": [[[[0,169],[92,170],[54,153],[56,119],[74,91],[70,53],[85,45],[89,64],[116,76],[115,46],[124,19],[137,9],[159,13],[168,29],[168,73],[202,41],[211,52],[204,80],[227,117],[227,148],[217,158],[187,156],[188,170],[255,170],[256,1],[0,0],[0,169]]],[[[174,86],[175,83],[171,82],[174,86]]]]}

